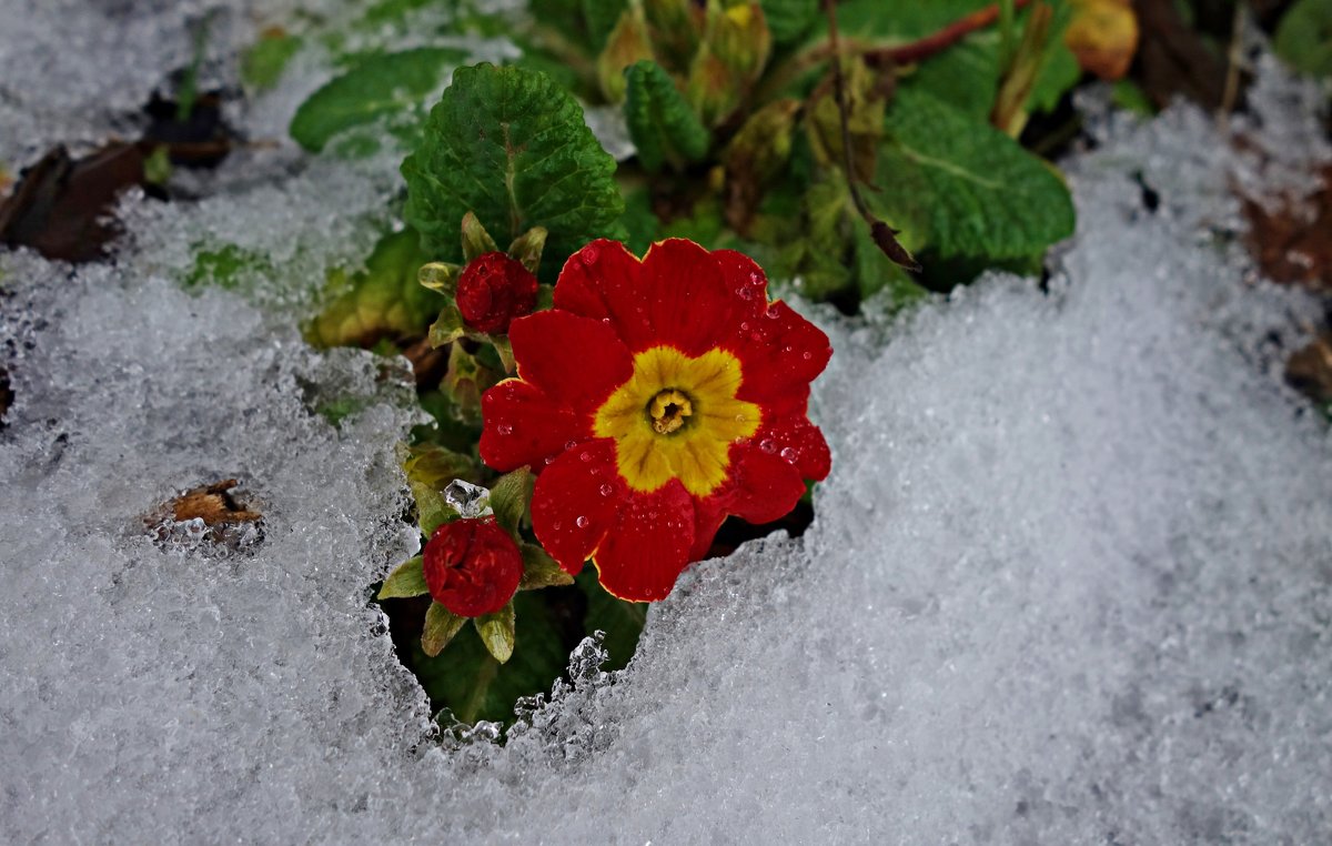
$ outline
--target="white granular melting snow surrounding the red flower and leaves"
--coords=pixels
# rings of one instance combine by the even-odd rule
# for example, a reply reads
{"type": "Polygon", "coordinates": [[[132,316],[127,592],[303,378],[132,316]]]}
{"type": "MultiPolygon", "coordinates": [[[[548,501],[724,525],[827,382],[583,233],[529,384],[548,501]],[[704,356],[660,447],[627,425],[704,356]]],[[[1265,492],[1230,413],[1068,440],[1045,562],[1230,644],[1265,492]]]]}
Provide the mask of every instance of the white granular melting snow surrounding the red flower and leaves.
{"type": "Polygon", "coordinates": [[[1332,444],[1279,378],[1315,312],[1256,278],[1231,187],[1327,151],[1261,72],[1243,155],[1188,108],[1106,120],[1046,290],[805,306],[836,349],[815,524],[691,569],[627,670],[585,643],[502,747],[438,735],[370,604],[417,545],[406,364],[292,320],[386,224],[388,157],[257,151],[131,199],[113,264],[0,253],[8,842],[1325,839],[1332,444]],[[281,270],[186,292],[205,237],[281,270]],[[155,544],[229,477],[260,540],[155,544]]]}

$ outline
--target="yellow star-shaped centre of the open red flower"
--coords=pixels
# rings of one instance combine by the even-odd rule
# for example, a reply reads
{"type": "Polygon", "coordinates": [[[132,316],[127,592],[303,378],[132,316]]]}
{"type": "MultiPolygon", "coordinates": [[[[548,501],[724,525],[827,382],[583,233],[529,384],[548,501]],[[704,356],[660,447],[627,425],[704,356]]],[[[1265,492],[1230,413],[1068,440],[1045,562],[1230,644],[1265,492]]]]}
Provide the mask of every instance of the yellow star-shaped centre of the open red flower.
{"type": "Polygon", "coordinates": [[[726,481],[730,448],[762,418],[737,400],[741,361],[722,349],[690,358],[673,346],[634,356],[634,372],[599,409],[593,432],[615,440],[615,462],[630,488],[657,490],[673,478],[695,497],[726,481]]]}

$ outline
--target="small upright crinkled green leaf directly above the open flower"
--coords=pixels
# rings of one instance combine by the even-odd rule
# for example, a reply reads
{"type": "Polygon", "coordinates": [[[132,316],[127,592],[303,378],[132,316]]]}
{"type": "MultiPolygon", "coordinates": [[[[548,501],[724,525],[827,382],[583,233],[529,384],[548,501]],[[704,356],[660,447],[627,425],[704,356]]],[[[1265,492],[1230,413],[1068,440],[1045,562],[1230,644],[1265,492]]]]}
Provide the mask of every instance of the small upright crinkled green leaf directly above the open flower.
{"type": "Polygon", "coordinates": [[[711,136],[661,65],[633,64],[625,81],[625,120],[645,171],[655,173],[665,163],[679,169],[707,153],[711,136]]]}

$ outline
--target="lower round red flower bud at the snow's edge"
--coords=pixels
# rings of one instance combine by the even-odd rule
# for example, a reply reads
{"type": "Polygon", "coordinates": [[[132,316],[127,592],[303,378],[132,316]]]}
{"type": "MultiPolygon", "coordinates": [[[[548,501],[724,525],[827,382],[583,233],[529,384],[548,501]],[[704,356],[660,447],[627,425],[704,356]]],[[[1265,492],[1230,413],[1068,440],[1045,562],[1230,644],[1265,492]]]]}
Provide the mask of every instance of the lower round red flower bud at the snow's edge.
{"type": "Polygon", "coordinates": [[[494,517],[444,524],[421,558],[430,597],[461,617],[498,612],[522,578],[522,553],[494,517]]]}

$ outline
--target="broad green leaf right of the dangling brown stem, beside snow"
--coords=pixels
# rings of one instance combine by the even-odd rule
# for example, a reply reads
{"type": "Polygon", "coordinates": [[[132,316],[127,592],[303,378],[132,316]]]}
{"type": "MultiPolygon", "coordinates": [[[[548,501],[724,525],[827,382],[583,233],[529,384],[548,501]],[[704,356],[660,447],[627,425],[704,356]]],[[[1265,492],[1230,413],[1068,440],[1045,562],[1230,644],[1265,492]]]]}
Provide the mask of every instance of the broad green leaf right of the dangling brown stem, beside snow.
{"type": "Polygon", "coordinates": [[[908,249],[1016,258],[1072,234],[1063,180],[1004,133],[912,91],[899,92],[884,129],[871,203],[908,249]]]}

